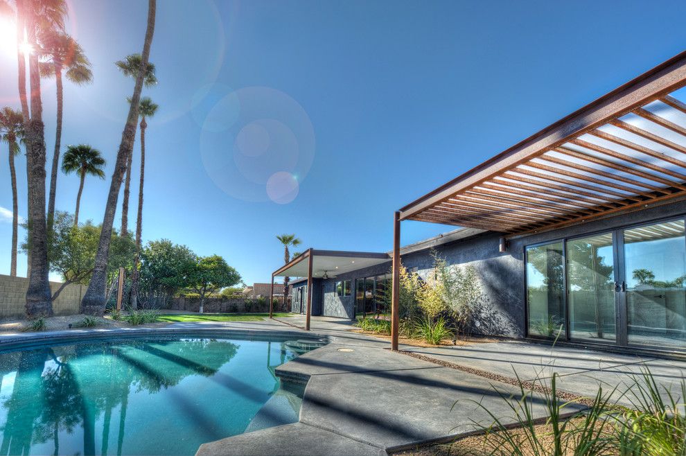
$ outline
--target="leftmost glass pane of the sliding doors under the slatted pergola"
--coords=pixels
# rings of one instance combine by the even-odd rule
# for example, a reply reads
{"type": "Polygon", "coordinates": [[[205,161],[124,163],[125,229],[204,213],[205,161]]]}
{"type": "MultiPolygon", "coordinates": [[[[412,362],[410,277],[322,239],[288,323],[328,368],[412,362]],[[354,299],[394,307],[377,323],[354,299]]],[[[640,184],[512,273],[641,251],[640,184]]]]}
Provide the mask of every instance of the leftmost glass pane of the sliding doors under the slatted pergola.
{"type": "Polygon", "coordinates": [[[565,338],[563,244],[527,247],[529,335],[565,338]]]}

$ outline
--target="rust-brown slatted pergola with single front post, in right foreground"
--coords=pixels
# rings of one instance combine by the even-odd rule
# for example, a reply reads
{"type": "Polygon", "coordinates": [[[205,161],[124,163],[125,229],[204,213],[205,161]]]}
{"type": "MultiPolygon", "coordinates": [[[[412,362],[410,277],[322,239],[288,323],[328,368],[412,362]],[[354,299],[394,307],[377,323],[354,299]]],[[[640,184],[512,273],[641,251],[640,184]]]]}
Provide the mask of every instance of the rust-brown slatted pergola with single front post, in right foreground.
{"type": "Polygon", "coordinates": [[[397,211],[392,349],[402,220],[513,237],[685,198],[684,86],[686,52],[397,211]]]}

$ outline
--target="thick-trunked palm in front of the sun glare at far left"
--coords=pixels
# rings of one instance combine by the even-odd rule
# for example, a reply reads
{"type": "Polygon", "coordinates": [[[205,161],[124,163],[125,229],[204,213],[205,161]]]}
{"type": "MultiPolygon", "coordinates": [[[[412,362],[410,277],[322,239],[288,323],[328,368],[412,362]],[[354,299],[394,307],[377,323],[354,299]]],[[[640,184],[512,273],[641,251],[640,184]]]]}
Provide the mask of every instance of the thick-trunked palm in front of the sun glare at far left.
{"type": "MultiPolygon", "coordinates": [[[[41,30],[64,30],[67,6],[64,0],[16,0],[17,38],[29,49],[39,49],[38,36],[41,30]]],[[[18,60],[26,56],[19,54],[18,60]]],[[[26,103],[26,68],[19,62],[19,98],[24,116],[26,134],[26,167],[28,177],[28,236],[30,245],[29,277],[26,290],[26,315],[53,315],[52,293],[48,281],[48,231],[45,217],[45,126],[40,87],[40,70],[36,52],[28,53],[28,76],[30,81],[30,113],[26,103]]]]}

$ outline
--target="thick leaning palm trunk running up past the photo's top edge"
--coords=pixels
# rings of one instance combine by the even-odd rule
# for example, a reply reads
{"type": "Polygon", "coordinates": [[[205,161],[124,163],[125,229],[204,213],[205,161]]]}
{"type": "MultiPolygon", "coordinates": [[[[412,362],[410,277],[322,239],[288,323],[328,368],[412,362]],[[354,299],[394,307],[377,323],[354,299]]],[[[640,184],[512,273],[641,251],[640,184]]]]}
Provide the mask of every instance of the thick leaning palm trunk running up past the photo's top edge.
{"type": "Polygon", "coordinates": [[[141,90],[143,89],[143,76],[145,76],[146,68],[148,67],[152,35],[155,33],[156,9],[156,0],[148,0],[148,27],[146,30],[146,40],[143,44],[143,53],[141,54],[141,67],[138,70],[136,85],[134,87],[133,96],[131,97],[129,115],[126,119],[124,131],[121,134],[121,143],[119,143],[119,150],[116,154],[116,164],[114,165],[112,183],[109,186],[109,193],[107,195],[105,218],[103,219],[103,229],[100,232],[100,244],[98,245],[98,252],[96,254],[95,268],[91,276],[91,281],[88,284],[88,289],[81,300],[80,312],[88,315],[103,315],[105,312],[105,283],[107,281],[109,241],[112,236],[116,200],[126,170],[126,161],[133,150],[136,123],[141,103],[141,90]]]}

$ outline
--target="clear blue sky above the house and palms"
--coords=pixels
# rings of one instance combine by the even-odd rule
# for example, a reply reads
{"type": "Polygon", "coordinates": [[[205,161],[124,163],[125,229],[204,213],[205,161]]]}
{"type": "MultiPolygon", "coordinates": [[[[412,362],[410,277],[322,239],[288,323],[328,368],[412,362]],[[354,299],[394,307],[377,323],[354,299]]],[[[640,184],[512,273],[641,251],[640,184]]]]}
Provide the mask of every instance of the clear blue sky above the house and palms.
{"type": "MultiPolygon", "coordinates": [[[[101,222],[133,85],[113,62],[141,51],[147,2],[69,6],[95,80],[65,83],[62,143],[108,160],[81,203],[82,220],[101,222]]],[[[683,1],[158,1],[143,240],[220,254],[247,283],[283,262],[276,234],[387,251],[394,210],[683,51],[683,17],[683,1]]],[[[9,47],[0,42],[0,104],[18,108],[9,47]]],[[[43,100],[51,153],[52,81],[43,100]]],[[[23,155],[17,173],[26,216],[23,155]]],[[[132,195],[137,176],[134,166],[132,195]]],[[[60,175],[58,209],[73,211],[77,189],[76,176],[60,175]]],[[[135,208],[133,198],[131,219],[135,208]]],[[[403,243],[449,229],[403,222],[403,243]]]]}

